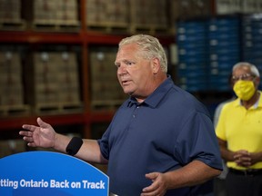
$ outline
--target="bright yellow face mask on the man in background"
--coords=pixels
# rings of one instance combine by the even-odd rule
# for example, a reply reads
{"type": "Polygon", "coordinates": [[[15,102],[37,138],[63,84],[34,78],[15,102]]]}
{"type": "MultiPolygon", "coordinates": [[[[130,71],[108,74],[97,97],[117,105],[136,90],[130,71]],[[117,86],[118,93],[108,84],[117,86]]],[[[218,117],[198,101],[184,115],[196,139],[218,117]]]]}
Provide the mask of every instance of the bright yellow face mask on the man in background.
{"type": "Polygon", "coordinates": [[[256,88],[253,81],[243,80],[237,81],[237,83],[235,83],[234,85],[233,90],[237,94],[237,97],[244,101],[249,100],[256,92],[256,88]]]}

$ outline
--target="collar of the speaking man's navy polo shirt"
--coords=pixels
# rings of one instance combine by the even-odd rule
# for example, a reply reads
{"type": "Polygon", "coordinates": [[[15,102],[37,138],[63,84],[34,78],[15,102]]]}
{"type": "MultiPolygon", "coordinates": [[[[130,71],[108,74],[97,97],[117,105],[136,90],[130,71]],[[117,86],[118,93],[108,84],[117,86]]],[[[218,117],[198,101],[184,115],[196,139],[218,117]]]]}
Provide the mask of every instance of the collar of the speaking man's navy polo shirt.
{"type": "Polygon", "coordinates": [[[162,98],[166,95],[166,92],[168,89],[171,88],[173,85],[173,81],[171,79],[170,75],[167,75],[166,80],[161,83],[156,90],[151,93],[146,100],[143,103],[137,103],[136,98],[130,97],[129,101],[127,103],[128,107],[131,107],[133,104],[139,105],[139,104],[146,104],[152,108],[156,108],[157,104],[162,100],[162,98]]]}

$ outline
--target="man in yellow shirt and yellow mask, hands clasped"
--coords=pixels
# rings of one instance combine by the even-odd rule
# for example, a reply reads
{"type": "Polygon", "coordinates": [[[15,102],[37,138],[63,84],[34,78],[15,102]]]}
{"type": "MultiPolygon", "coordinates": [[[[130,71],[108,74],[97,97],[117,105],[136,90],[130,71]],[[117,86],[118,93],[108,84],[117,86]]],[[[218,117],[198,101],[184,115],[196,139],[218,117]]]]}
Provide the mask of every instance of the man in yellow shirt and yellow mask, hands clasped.
{"type": "Polygon", "coordinates": [[[217,122],[217,139],[229,172],[227,195],[262,195],[262,99],[259,72],[241,62],[232,69],[237,99],[226,103],[217,122]]]}

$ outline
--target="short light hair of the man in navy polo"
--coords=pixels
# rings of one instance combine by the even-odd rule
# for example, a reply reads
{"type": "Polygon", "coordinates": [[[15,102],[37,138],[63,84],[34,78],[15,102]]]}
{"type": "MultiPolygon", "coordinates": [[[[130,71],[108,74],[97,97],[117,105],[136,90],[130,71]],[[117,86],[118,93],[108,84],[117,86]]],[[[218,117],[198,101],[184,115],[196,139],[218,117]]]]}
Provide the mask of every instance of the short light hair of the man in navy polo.
{"type": "Polygon", "coordinates": [[[160,62],[161,70],[167,73],[167,58],[162,44],[156,37],[147,34],[136,34],[124,38],[119,44],[119,48],[125,44],[137,44],[146,59],[157,58],[160,62]]]}

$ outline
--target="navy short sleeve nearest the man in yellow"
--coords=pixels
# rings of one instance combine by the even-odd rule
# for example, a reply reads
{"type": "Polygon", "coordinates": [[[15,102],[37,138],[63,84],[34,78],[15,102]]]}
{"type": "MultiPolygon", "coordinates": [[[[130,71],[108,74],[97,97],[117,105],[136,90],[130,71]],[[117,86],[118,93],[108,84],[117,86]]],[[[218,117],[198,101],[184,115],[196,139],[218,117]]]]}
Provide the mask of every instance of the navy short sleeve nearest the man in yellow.
{"type": "Polygon", "coordinates": [[[198,160],[222,170],[222,160],[214,125],[205,113],[192,113],[179,134],[176,157],[184,164],[198,160]]]}

